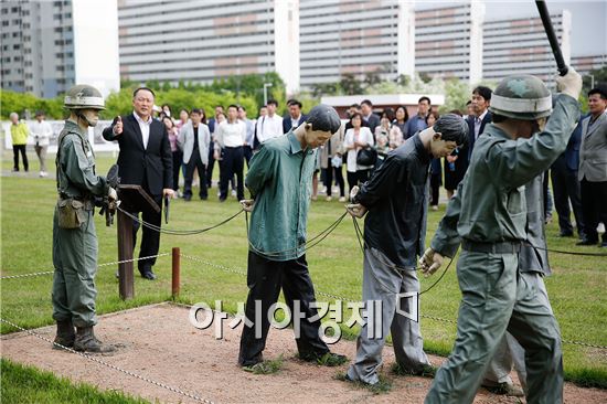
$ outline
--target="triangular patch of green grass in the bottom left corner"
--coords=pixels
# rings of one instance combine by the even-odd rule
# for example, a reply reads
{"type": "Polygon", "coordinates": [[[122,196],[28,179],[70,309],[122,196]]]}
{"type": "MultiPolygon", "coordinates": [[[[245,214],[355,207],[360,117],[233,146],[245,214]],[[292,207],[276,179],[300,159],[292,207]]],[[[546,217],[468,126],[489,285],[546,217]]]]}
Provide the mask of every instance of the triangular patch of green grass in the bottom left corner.
{"type": "Polygon", "coordinates": [[[145,404],[148,401],[134,398],[121,392],[100,392],[96,387],[68,379],[56,378],[32,366],[2,359],[0,396],[3,404],[145,404]]]}

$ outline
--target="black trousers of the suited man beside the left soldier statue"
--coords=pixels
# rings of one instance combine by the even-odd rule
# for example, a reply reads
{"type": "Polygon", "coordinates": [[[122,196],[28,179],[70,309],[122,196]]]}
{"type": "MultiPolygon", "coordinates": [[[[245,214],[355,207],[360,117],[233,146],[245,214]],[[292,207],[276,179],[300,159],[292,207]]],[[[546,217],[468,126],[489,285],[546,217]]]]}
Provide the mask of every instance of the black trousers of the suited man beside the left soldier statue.
{"type": "MultiPolygon", "coordinates": [[[[137,206],[134,210],[129,210],[130,214],[139,217],[139,212],[141,212],[141,220],[146,223],[153,224],[158,227],[161,225],[162,219],[162,195],[152,195],[150,194],[147,184],[142,185],[143,190],[148,195],[153,199],[153,201],[160,206],[160,212],[156,212],[153,209],[148,206],[137,206]]],[[[137,232],[141,224],[139,221],[132,221],[132,248],[135,249],[135,244],[137,244],[137,232]]],[[[158,248],[160,247],[160,233],[143,226],[141,230],[141,246],[139,247],[139,257],[148,257],[150,255],[158,255],[158,248]]],[[[141,274],[152,270],[152,266],[156,264],[156,257],[139,259],[137,262],[137,268],[141,274]]]]}

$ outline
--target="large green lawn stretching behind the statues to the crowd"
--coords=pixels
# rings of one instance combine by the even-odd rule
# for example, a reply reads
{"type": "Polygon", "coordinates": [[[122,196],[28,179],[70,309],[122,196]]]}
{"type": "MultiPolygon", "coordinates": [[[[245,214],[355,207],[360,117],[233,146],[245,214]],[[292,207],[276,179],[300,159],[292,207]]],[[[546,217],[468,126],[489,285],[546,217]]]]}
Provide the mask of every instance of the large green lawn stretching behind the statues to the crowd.
{"type": "MultiPolygon", "coordinates": [[[[113,159],[98,157],[99,172],[105,173],[113,159]]],[[[6,170],[7,161],[2,162],[6,170]]],[[[10,168],[10,162],[8,163],[10,168]]],[[[196,192],[194,191],[194,195],[196,192]]],[[[219,203],[216,188],[210,191],[210,200],[193,199],[171,204],[169,228],[202,228],[220,222],[239,210],[236,200],[219,203]]],[[[49,179],[2,178],[2,275],[15,275],[39,270],[52,270],[52,215],[55,204],[55,183],[49,179]]],[[[444,208],[443,208],[444,209],[444,208]]],[[[333,201],[312,203],[309,215],[309,236],[318,234],[343,212],[343,204],[333,201]]],[[[428,237],[434,234],[444,210],[428,216],[428,237]]],[[[117,259],[116,227],[106,227],[102,216],[96,215],[99,238],[99,264],[117,259]]],[[[556,219],[555,219],[556,222],[556,219]]],[[[362,225],[362,223],[361,223],[362,225]]],[[[558,238],[558,226],[547,226],[549,245],[553,248],[601,252],[597,247],[575,247],[574,238],[558,238]]],[[[387,236],[387,235],[386,235],[387,236]]],[[[193,236],[162,235],[160,252],[170,252],[179,246],[183,254],[192,255],[238,270],[245,270],[247,243],[244,215],[209,233],[193,236]]],[[[605,249],[603,249],[605,252],[605,249]]],[[[361,297],[362,254],[356,242],[351,219],[340,226],[319,246],[307,254],[310,274],[319,300],[327,300],[328,293],[354,300],[361,297]]],[[[551,254],[554,275],[546,286],[564,340],[607,345],[607,259],[605,257],[566,256],[551,254]]],[[[460,293],[456,280],[456,263],[445,278],[429,293],[423,295],[420,313],[455,320],[460,293]]],[[[160,257],[155,270],[157,281],[136,277],[136,297],[129,301],[118,298],[118,283],[114,277],[115,266],[100,267],[97,276],[99,313],[113,312],[135,306],[163,301],[171,298],[171,258],[160,257]]],[[[246,279],[242,275],[217,269],[182,258],[182,288],[179,301],[195,304],[223,300],[224,310],[235,311],[236,302],[246,298],[246,279]]],[[[422,288],[432,285],[438,275],[422,279],[422,288]]],[[[51,325],[52,276],[2,280],[2,317],[25,328],[51,325]]],[[[347,312],[347,315],[350,311],[347,312]]],[[[422,319],[425,347],[429,352],[447,355],[455,339],[455,325],[422,319]]],[[[1,332],[12,332],[2,325],[1,332]]],[[[358,330],[344,330],[349,337],[358,330]]],[[[607,389],[607,350],[565,343],[566,378],[582,385],[607,389]]]]}

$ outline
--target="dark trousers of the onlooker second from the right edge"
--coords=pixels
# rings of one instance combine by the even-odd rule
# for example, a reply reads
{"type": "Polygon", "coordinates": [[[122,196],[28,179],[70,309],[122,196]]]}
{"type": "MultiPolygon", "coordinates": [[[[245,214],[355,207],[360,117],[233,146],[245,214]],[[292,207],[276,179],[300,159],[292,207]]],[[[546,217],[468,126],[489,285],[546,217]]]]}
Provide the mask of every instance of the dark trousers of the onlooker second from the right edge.
{"type": "Polygon", "coordinates": [[[584,234],[584,220],[582,214],[582,198],[577,170],[567,168],[564,158],[558,158],[552,164],[550,171],[552,190],[554,191],[554,208],[558,214],[558,227],[563,234],[573,234],[573,225],[569,215],[569,201],[573,208],[573,215],[577,225],[577,234],[584,234]]]}

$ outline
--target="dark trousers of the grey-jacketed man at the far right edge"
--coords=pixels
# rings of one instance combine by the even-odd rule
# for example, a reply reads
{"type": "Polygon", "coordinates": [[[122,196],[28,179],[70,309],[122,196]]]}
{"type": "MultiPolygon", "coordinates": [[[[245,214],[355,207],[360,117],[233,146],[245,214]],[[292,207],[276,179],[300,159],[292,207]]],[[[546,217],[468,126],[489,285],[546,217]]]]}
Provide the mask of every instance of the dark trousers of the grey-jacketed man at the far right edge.
{"type": "MultiPolygon", "coordinates": [[[[598,223],[603,222],[607,226],[607,181],[590,182],[583,179],[581,190],[584,232],[588,240],[598,242],[598,223]]],[[[607,232],[603,233],[603,241],[607,242],[607,232]]]]}

